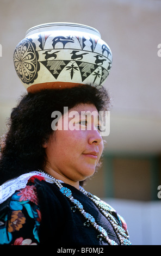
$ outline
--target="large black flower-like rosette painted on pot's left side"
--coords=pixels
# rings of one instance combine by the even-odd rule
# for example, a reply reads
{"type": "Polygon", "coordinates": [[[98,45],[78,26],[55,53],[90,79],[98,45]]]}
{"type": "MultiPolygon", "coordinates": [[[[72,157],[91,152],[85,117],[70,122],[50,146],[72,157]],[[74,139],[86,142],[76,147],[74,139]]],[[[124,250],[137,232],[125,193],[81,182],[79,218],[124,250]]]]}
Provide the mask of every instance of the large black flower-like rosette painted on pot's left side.
{"type": "Polygon", "coordinates": [[[22,40],[14,51],[14,65],[23,83],[33,83],[38,77],[39,55],[32,39],[22,40]]]}

